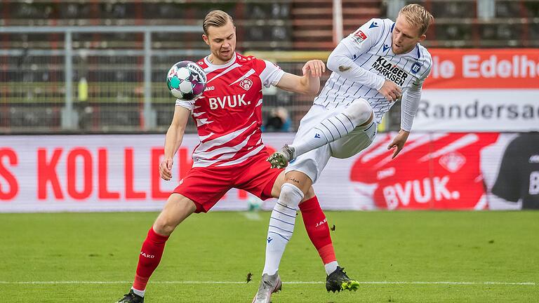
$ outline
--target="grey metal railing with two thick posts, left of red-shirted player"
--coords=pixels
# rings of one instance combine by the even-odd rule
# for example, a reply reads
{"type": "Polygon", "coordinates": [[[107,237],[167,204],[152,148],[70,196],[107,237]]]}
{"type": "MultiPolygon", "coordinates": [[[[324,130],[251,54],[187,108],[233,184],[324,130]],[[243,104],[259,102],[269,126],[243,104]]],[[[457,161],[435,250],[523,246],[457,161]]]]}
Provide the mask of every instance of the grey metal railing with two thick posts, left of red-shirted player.
{"type": "MultiPolygon", "coordinates": [[[[46,65],[39,67],[38,62],[33,62],[37,58],[63,58],[63,65],[58,64],[61,71],[58,71],[57,78],[64,79],[63,88],[55,88],[58,92],[53,95],[53,101],[55,103],[60,102],[63,99],[63,107],[60,112],[60,127],[61,130],[77,130],[79,125],[79,114],[74,110],[74,57],[88,58],[94,56],[95,58],[105,57],[133,57],[141,58],[143,61],[142,66],[142,92],[143,92],[143,111],[142,111],[142,130],[155,130],[157,126],[157,115],[155,109],[152,107],[152,86],[154,86],[155,80],[152,79],[152,59],[155,58],[199,58],[207,53],[207,50],[196,49],[168,49],[168,50],[155,50],[152,49],[152,34],[153,33],[201,33],[201,28],[198,26],[126,26],[126,27],[106,27],[106,26],[94,26],[94,27],[0,27],[0,34],[63,34],[63,48],[62,49],[1,49],[0,58],[2,58],[3,64],[0,68],[0,82],[2,84],[2,90],[4,90],[0,96],[2,97],[0,103],[6,105],[10,102],[9,87],[13,86],[43,86],[46,83],[27,83],[24,81],[24,76],[18,76],[17,73],[28,72],[28,70],[46,68],[46,65]],[[143,45],[140,49],[88,49],[88,48],[74,48],[73,35],[74,34],[93,34],[93,33],[133,33],[143,34],[143,45]],[[22,58],[22,61],[27,62],[18,63],[18,65],[10,64],[13,62],[13,58],[22,58]],[[27,59],[29,58],[29,59],[27,59]],[[36,67],[38,66],[38,67],[36,67]],[[27,69],[25,69],[27,67],[27,69]],[[15,76],[9,76],[10,71],[13,74],[15,70],[15,76]],[[4,76],[2,76],[4,74],[4,76]],[[22,80],[22,81],[21,81],[22,80]],[[62,96],[63,95],[63,96],[62,96]]],[[[169,59],[169,65],[172,65],[175,59],[169,59]]],[[[44,59],[46,62],[47,59],[44,59]]],[[[58,63],[58,60],[56,60],[58,63]]],[[[161,60],[162,61],[162,60],[161,60]]],[[[137,71],[133,71],[137,72],[137,71]]],[[[80,75],[79,75],[80,78],[80,75]]],[[[80,80],[80,79],[79,79],[80,80]]],[[[59,85],[60,82],[56,82],[59,85]]],[[[21,89],[22,90],[22,89],[21,89]]],[[[13,98],[11,98],[13,99],[13,98]]],[[[31,101],[31,100],[30,100],[31,101]]],[[[39,98],[34,100],[39,102],[39,98]]],[[[47,101],[46,101],[47,102],[47,101]]],[[[13,102],[11,102],[13,103],[13,102]]],[[[8,123],[7,123],[8,124],[8,123]]],[[[6,123],[1,123],[6,125],[6,123]]]]}

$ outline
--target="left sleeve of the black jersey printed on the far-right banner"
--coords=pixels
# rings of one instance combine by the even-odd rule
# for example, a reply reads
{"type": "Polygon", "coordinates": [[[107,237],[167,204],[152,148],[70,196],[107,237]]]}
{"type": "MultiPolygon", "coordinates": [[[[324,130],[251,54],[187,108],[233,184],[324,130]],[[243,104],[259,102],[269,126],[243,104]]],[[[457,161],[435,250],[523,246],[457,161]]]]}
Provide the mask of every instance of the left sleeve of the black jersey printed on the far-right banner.
{"type": "Polygon", "coordinates": [[[492,187],[493,194],[512,202],[517,202],[520,198],[520,180],[517,172],[519,163],[515,163],[515,159],[519,157],[516,148],[515,140],[513,140],[505,149],[498,177],[492,187]]]}

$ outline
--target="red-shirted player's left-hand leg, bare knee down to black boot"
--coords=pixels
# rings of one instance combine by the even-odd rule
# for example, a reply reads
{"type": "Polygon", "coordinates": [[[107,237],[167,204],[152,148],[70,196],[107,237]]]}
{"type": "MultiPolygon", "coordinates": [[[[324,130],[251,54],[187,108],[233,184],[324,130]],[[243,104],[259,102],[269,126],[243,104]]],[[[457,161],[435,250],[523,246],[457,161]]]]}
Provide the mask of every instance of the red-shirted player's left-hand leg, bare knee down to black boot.
{"type": "Polygon", "coordinates": [[[138,257],[135,281],[131,290],[119,299],[119,303],[142,303],[149,277],[161,261],[165,243],[175,227],[197,210],[193,201],[181,194],[171,194],[142,243],[138,257]]]}

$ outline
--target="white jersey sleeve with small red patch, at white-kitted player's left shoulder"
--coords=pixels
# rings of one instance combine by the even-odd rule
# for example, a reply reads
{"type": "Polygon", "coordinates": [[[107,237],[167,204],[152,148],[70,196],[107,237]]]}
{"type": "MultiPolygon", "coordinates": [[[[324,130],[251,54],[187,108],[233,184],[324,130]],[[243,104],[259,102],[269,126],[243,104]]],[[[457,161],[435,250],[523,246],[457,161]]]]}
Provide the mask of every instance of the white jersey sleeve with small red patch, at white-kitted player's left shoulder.
{"type": "Polygon", "coordinates": [[[342,39],[341,43],[355,55],[362,55],[378,43],[385,26],[384,20],[373,18],[342,39]]]}

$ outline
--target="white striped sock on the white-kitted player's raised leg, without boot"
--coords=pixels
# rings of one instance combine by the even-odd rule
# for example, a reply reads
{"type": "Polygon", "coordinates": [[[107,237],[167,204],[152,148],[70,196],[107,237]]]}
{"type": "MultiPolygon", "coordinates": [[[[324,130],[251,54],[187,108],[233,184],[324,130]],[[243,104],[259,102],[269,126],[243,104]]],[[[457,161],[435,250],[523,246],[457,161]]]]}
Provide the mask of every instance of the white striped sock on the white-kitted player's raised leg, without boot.
{"type": "Polygon", "coordinates": [[[329,142],[339,140],[356,128],[356,125],[344,113],[325,119],[310,130],[305,137],[307,140],[298,144],[292,144],[295,148],[295,156],[305,154],[312,149],[324,146],[329,142]]]}

